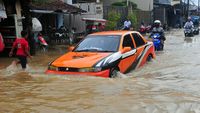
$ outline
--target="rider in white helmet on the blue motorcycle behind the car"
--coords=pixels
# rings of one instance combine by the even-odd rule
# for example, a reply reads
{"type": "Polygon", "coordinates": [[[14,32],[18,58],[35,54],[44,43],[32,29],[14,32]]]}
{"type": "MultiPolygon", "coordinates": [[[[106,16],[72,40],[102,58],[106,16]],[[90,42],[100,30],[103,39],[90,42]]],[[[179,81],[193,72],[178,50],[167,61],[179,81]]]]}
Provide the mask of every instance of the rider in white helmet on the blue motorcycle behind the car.
{"type": "Polygon", "coordinates": [[[152,29],[151,35],[153,35],[154,33],[159,33],[160,34],[160,36],[161,36],[160,37],[161,44],[162,44],[162,47],[164,47],[164,41],[166,40],[166,38],[165,38],[165,34],[164,34],[164,29],[161,27],[160,20],[155,20],[154,21],[154,27],[152,29]]]}

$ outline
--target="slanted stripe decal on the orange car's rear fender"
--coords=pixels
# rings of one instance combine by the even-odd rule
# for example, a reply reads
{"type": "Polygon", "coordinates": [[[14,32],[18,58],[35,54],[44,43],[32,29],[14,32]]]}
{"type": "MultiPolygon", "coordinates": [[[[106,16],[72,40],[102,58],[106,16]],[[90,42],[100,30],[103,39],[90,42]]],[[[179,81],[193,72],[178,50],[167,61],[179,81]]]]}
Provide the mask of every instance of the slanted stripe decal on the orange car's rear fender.
{"type": "Polygon", "coordinates": [[[141,64],[141,62],[142,62],[142,60],[143,60],[145,54],[147,53],[147,51],[148,51],[152,46],[153,46],[153,45],[152,45],[151,43],[147,43],[147,44],[145,45],[145,48],[144,48],[143,52],[141,52],[140,56],[138,57],[139,62],[137,63],[136,68],[138,68],[138,67],[140,66],[140,64],[141,64]]]}

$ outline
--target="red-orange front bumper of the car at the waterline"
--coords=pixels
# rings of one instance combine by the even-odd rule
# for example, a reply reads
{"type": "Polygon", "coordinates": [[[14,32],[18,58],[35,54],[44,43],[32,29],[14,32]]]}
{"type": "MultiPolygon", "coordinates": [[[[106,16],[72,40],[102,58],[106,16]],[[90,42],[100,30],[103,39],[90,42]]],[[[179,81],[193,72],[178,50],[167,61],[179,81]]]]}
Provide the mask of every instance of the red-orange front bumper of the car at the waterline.
{"type": "Polygon", "coordinates": [[[63,71],[54,71],[54,70],[47,70],[46,74],[58,74],[58,75],[88,75],[88,76],[98,76],[98,77],[109,77],[110,70],[104,70],[99,72],[63,72],[63,71]]]}

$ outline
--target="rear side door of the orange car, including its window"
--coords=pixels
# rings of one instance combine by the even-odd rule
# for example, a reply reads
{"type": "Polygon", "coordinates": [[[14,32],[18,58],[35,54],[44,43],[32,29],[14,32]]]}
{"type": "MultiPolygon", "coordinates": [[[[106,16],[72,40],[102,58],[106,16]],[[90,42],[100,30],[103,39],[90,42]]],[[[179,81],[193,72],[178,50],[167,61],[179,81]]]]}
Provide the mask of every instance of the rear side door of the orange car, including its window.
{"type": "Polygon", "coordinates": [[[146,42],[145,40],[138,34],[138,33],[132,33],[134,43],[136,45],[136,56],[137,56],[137,63],[136,63],[136,68],[142,65],[142,62],[145,58],[146,55],[146,42]]]}

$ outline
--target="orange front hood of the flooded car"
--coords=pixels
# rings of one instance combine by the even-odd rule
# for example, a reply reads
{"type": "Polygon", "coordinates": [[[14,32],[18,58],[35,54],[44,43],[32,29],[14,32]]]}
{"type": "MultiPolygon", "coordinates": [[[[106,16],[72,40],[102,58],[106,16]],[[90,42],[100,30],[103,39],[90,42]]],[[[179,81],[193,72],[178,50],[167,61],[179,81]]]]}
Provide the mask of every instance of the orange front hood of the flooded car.
{"type": "Polygon", "coordinates": [[[69,52],[56,59],[52,65],[73,68],[92,67],[110,54],[112,53],[69,52]]]}

